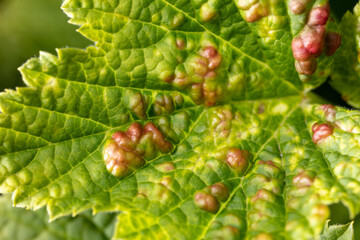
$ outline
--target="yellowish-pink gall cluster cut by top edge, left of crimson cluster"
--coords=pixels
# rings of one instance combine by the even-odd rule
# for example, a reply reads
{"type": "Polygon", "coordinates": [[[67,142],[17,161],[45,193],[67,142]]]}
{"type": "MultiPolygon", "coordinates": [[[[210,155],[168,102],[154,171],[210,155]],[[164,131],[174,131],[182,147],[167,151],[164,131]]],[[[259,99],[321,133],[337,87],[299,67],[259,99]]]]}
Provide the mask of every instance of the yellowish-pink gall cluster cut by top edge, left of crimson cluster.
{"type": "Polygon", "coordinates": [[[237,0],[236,6],[243,11],[243,18],[247,22],[255,22],[269,15],[269,1],[265,0],[237,0]]]}

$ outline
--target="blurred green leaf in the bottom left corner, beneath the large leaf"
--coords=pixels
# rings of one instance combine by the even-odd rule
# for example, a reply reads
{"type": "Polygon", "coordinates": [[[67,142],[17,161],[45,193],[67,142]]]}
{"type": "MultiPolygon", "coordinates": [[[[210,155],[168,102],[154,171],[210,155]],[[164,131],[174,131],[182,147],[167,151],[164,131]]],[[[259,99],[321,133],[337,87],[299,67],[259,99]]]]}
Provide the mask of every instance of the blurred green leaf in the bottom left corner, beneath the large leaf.
{"type": "Polygon", "coordinates": [[[111,239],[114,213],[91,216],[86,211],[76,217],[64,217],[48,222],[45,209],[36,212],[11,207],[10,198],[0,197],[0,234],[3,240],[64,240],[111,239]]]}

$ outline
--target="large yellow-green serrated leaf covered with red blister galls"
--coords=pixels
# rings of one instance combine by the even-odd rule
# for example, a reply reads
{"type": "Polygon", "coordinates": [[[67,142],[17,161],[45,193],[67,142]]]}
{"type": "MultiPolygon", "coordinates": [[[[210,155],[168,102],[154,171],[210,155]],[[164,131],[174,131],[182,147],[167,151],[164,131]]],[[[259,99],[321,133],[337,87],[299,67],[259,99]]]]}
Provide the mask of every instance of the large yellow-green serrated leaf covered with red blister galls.
{"type": "Polygon", "coordinates": [[[313,239],[329,204],[360,212],[360,113],[306,94],[338,47],[327,1],[63,9],[95,46],[40,53],[0,96],[16,206],[119,211],[114,239],[313,239]]]}

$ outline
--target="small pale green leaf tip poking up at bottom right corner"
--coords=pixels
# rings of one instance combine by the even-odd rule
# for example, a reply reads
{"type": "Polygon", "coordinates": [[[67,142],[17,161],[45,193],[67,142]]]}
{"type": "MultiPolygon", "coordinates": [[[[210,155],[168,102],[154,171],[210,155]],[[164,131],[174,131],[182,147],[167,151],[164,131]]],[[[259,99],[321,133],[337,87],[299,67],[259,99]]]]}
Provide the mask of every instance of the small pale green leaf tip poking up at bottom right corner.
{"type": "Polygon", "coordinates": [[[353,223],[346,225],[331,225],[326,222],[324,232],[322,233],[321,239],[326,240],[352,240],[354,239],[354,228],[353,223]]]}

